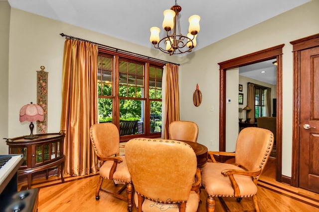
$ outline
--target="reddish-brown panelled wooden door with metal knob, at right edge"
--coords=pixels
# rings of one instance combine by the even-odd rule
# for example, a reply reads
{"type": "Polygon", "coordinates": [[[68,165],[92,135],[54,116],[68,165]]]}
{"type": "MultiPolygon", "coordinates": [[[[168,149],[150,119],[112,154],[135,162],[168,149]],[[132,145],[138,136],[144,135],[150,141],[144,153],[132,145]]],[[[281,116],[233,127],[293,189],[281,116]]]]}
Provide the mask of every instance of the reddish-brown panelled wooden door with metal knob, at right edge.
{"type": "Polygon", "coordinates": [[[300,54],[299,187],[319,193],[319,46],[300,54]]]}

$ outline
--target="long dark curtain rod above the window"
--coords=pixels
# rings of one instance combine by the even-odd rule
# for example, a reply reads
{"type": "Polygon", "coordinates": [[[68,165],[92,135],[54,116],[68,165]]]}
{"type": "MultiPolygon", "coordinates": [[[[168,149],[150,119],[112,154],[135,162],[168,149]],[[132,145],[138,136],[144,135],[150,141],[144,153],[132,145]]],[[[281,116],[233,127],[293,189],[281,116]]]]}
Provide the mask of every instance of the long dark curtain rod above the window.
{"type": "Polygon", "coordinates": [[[88,40],[84,40],[84,39],[82,39],[82,38],[77,38],[77,37],[73,37],[73,36],[71,36],[71,35],[66,35],[66,34],[64,34],[64,33],[60,33],[60,35],[61,35],[62,37],[66,37],[66,38],[69,38],[69,39],[74,39],[74,40],[89,42],[89,43],[92,43],[92,44],[97,45],[98,47],[105,48],[105,49],[107,49],[107,50],[111,50],[111,51],[115,51],[115,52],[120,52],[120,53],[125,53],[125,54],[131,55],[131,56],[138,56],[138,57],[141,57],[141,58],[143,58],[143,59],[147,59],[147,60],[154,61],[154,62],[170,63],[170,64],[174,64],[174,65],[180,66],[180,64],[175,64],[175,63],[171,63],[171,62],[169,62],[169,61],[163,61],[163,60],[160,60],[160,59],[151,58],[151,57],[148,57],[148,56],[145,56],[145,55],[140,55],[140,54],[133,53],[133,52],[129,52],[129,51],[122,50],[122,49],[117,49],[117,48],[114,48],[114,47],[111,47],[111,46],[106,46],[106,45],[103,45],[103,44],[95,43],[95,42],[93,42],[93,41],[88,41],[88,40]]]}

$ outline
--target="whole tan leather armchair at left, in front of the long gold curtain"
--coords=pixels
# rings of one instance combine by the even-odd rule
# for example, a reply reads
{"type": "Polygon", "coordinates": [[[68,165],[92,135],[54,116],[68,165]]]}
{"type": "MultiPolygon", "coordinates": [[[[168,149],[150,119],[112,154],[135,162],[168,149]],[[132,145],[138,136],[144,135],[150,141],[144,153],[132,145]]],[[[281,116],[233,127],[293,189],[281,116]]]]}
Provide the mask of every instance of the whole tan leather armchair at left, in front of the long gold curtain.
{"type": "Polygon", "coordinates": [[[95,191],[96,200],[100,199],[100,191],[111,194],[121,200],[127,201],[128,211],[133,209],[133,184],[124,155],[119,156],[120,134],[118,128],[112,123],[99,123],[90,128],[90,137],[95,153],[100,160],[100,178],[95,191]],[[104,179],[113,180],[115,186],[124,184],[117,192],[102,188],[104,179]],[[126,189],[127,198],[121,193],[126,189]]]}

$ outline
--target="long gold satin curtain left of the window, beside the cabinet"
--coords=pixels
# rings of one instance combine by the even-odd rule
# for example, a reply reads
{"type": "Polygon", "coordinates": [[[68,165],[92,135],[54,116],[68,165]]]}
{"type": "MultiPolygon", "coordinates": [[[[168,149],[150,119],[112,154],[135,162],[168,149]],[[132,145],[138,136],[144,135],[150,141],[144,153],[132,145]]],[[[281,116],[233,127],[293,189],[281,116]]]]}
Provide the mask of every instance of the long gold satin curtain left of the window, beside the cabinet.
{"type": "Polygon", "coordinates": [[[89,134],[97,123],[97,55],[98,47],[92,43],[65,40],[61,115],[61,129],[66,130],[64,174],[97,171],[89,134]]]}

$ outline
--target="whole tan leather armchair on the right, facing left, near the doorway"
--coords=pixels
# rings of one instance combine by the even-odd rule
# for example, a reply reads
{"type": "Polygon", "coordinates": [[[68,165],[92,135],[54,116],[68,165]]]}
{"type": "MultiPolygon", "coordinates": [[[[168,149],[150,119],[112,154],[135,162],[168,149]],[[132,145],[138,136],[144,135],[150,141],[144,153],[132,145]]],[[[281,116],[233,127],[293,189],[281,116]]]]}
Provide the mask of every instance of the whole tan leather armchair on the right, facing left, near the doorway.
{"type": "Polygon", "coordinates": [[[202,187],[207,192],[207,212],[214,212],[215,197],[234,197],[237,202],[252,197],[256,212],[257,182],[273,147],[274,136],[269,130],[249,127],[240,131],[235,152],[208,151],[213,162],[202,168],[202,187]],[[217,163],[213,155],[235,156],[235,164],[217,163]]]}

